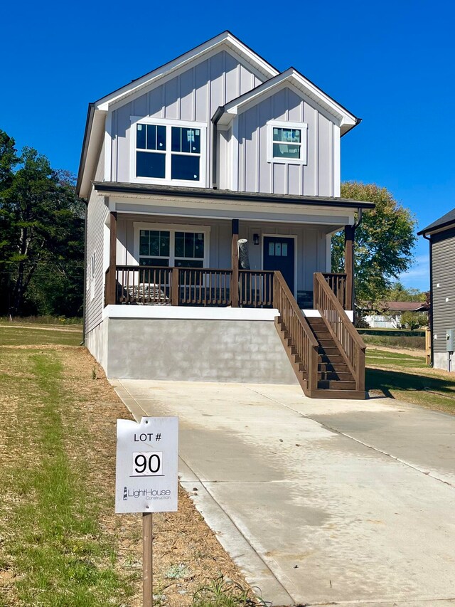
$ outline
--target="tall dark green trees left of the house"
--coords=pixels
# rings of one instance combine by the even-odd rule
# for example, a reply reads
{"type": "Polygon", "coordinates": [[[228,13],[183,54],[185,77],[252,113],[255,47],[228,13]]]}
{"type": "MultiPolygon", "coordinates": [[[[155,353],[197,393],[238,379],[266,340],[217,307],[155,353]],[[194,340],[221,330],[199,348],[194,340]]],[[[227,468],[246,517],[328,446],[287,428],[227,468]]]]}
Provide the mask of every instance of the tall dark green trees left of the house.
{"type": "Polygon", "coordinates": [[[74,314],[82,305],[84,234],[74,180],[32,148],[23,149],[18,164],[0,186],[0,258],[9,280],[0,306],[11,315],[43,308],[61,314],[69,304],[74,314]]]}

